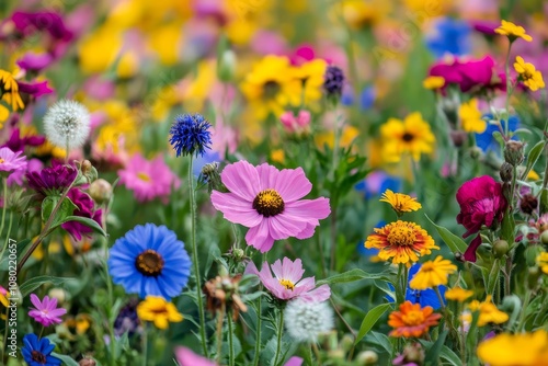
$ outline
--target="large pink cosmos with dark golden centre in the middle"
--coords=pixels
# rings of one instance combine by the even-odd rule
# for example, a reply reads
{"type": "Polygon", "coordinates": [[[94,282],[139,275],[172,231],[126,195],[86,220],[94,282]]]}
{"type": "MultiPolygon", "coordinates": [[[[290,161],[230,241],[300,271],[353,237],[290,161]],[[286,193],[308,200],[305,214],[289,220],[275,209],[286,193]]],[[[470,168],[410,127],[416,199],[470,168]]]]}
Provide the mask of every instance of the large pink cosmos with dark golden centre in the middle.
{"type": "Polygon", "coordinates": [[[227,220],[250,228],[246,241],[263,253],[274,240],[310,238],[331,213],[328,198],[300,199],[312,188],[301,168],[279,171],[267,163],[238,161],[220,178],[230,193],[214,191],[213,205],[227,220]]]}

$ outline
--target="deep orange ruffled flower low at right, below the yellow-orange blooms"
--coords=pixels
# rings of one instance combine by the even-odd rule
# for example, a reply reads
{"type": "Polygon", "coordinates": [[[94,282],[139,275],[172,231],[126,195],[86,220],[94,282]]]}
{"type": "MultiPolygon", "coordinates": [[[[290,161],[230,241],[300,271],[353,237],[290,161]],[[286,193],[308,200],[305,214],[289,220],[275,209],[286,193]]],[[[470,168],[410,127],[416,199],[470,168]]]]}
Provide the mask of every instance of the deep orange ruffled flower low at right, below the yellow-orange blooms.
{"type": "Polygon", "coordinates": [[[434,309],[430,306],[421,308],[420,304],[406,301],[400,305],[400,311],[392,311],[388,317],[388,325],[395,328],[390,335],[421,336],[429,331],[430,327],[437,325],[439,318],[442,316],[434,313],[434,309]]]}

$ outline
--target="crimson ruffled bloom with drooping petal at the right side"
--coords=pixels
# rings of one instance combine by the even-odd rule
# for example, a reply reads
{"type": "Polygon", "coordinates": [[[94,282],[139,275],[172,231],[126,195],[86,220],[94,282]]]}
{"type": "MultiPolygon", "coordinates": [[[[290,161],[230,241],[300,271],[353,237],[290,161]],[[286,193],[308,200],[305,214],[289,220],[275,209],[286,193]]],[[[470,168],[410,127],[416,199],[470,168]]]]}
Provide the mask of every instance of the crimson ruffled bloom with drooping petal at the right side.
{"type": "MultiPolygon", "coordinates": [[[[466,228],[464,238],[477,233],[482,226],[492,227],[501,222],[507,206],[502,184],[491,176],[483,175],[465,182],[457,191],[460,213],[457,222],[466,228]]],[[[476,250],[481,244],[478,236],[465,252],[465,260],[476,262],[476,250]]]]}

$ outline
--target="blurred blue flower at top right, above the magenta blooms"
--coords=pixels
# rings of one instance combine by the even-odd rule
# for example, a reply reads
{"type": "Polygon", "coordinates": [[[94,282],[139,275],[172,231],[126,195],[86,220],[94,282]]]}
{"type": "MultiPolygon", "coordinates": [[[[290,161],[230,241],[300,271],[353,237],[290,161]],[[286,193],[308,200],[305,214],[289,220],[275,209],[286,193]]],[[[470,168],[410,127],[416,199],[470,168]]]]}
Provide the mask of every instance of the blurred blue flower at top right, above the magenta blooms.
{"type": "Polygon", "coordinates": [[[455,56],[470,52],[470,25],[464,21],[443,18],[435,25],[435,33],[426,38],[426,46],[436,56],[455,56]]]}

